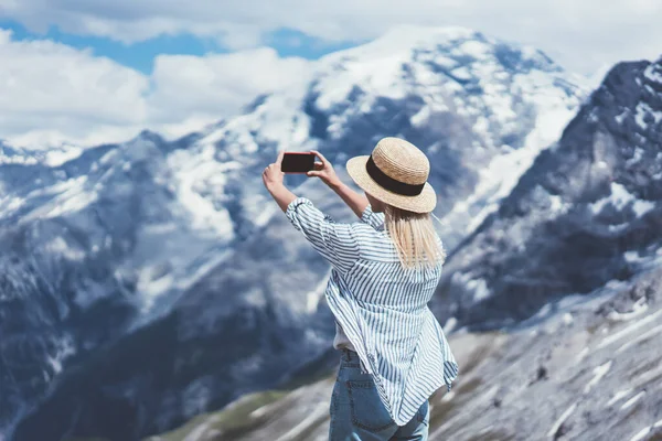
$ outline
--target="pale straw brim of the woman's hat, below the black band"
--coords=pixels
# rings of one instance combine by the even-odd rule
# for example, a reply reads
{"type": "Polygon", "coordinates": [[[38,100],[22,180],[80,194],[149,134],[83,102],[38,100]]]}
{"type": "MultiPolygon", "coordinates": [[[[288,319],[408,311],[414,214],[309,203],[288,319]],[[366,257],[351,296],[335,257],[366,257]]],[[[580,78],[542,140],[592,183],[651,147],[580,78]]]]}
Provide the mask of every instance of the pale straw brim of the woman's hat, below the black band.
{"type": "Polygon", "coordinates": [[[365,170],[365,164],[370,155],[360,155],[350,158],[345,163],[348,174],[352,180],[371,196],[383,201],[389,205],[402,209],[408,209],[414,213],[430,213],[437,206],[437,194],[435,189],[426,182],[423,191],[416,196],[406,196],[394,193],[377,184],[365,170]]]}

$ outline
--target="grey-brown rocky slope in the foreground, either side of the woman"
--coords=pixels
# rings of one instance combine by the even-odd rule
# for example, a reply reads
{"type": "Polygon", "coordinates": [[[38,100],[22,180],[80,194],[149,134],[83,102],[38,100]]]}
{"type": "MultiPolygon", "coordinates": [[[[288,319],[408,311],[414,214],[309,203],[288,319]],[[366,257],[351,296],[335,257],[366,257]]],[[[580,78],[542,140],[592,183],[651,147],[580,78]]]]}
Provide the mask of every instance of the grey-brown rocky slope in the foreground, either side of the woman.
{"type": "MultiPolygon", "coordinates": [[[[661,439],[661,263],[662,254],[629,282],[568,295],[508,330],[455,333],[462,370],[430,397],[429,440],[661,439]]],[[[328,440],[335,369],[146,441],[328,440]]]]}

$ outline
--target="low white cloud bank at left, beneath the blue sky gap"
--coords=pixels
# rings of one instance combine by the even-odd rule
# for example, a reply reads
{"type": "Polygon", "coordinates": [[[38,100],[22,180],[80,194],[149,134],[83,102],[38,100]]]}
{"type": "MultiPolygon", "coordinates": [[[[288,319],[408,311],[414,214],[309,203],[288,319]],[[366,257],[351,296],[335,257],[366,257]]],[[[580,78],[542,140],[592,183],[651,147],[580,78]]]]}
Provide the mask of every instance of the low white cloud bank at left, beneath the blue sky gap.
{"type": "Polygon", "coordinates": [[[0,139],[15,146],[124,141],[149,128],[181,136],[300,78],[309,62],[261,47],[160,55],[151,76],[49,40],[0,30],[0,139]]]}

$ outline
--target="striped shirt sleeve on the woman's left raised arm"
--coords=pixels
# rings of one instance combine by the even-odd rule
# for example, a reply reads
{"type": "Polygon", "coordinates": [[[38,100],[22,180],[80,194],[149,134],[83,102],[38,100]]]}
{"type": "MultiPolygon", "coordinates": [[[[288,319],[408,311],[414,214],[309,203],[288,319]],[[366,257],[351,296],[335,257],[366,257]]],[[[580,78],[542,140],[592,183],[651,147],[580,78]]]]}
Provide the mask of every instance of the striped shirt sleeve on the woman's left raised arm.
{"type": "Polygon", "coordinates": [[[285,215],[340,273],[346,273],[354,266],[359,244],[351,224],[337,223],[307,197],[290,202],[285,215]]]}

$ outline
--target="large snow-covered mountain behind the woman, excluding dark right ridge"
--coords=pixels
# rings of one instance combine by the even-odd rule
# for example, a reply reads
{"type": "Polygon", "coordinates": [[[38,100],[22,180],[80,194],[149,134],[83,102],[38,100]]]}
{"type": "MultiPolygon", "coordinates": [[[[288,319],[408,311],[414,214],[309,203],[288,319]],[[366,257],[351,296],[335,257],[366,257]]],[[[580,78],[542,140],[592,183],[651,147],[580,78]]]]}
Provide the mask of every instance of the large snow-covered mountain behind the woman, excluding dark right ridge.
{"type": "MultiPolygon", "coordinates": [[[[309,75],[175,142],[143,132],[60,161],[3,147],[0,433],[36,406],[17,439],[138,439],[330,346],[329,267],[263,187],[278,151],[320,150],[350,183],[346,159],[410,140],[452,249],[588,95],[543,53],[456,28],[399,28],[309,75]]],[[[319,181],[296,192],[352,219],[319,181]]]]}

